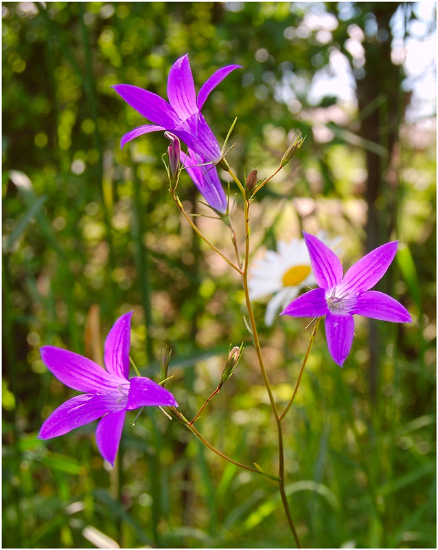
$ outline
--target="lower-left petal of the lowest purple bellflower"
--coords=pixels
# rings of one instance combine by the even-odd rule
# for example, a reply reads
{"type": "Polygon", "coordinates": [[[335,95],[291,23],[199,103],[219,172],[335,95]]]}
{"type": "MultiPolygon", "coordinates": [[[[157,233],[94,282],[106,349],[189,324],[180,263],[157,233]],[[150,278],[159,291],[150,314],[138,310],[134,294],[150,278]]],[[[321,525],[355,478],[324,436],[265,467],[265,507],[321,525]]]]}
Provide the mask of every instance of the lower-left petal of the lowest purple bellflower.
{"type": "Polygon", "coordinates": [[[85,393],[76,395],[51,413],[49,418],[41,426],[39,439],[51,439],[84,426],[107,412],[113,412],[118,408],[125,408],[125,404],[117,404],[115,399],[108,399],[104,395],[85,393]]]}

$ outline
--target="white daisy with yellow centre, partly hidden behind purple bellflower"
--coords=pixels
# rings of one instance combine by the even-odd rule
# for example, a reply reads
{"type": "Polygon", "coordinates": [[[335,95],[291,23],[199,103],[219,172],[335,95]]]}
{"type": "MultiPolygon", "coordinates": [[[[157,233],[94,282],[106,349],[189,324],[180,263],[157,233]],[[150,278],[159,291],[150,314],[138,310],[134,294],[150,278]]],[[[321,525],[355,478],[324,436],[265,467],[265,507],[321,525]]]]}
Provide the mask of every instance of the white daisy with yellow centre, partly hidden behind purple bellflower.
{"type": "MultiPolygon", "coordinates": [[[[339,237],[328,239],[324,231],[320,231],[317,236],[332,249],[341,241],[339,237]]],[[[289,243],[278,241],[277,252],[268,250],[264,258],[251,267],[249,276],[251,300],[274,294],[264,316],[268,327],[273,324],[277,311],[292,302],[302,287],[316,285],[304,239],[292,239],[289,243]]]]}

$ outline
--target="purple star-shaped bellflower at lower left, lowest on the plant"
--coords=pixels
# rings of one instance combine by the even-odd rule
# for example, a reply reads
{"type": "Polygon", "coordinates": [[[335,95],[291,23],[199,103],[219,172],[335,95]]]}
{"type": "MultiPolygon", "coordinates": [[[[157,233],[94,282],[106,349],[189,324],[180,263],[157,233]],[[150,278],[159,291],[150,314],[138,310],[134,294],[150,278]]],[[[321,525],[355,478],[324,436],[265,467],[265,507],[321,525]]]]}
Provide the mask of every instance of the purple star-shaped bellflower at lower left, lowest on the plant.
{"type": "Polygon", "coordinates": [[[178,406],[170,391],[149,378],[128,379],[131,316],[132,312],[117,319],[106,337],[106,370],[78,353],[52,346],[41,348],[47,369],[62,384],[85,393],[56,408],[41,426],[39,439],[64,435],[102,417],[96,428],[97,448],[114,465],[126,410],[145,405],[178,406]]]}

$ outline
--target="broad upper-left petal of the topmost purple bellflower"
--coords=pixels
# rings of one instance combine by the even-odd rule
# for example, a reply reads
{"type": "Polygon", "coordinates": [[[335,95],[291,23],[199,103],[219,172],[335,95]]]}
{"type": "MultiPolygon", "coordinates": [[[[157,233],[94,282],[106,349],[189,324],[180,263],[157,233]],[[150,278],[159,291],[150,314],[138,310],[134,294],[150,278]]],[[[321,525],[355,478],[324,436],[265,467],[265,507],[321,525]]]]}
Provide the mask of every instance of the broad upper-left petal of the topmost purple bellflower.
{"type": "Polygon", "coordinates": [[[178,124],[178,115],[166,100],[163,100],[152,91],[143,90],[130,84],[117,84],[113,86],[117,94],[150,122],[172,128],[178,124]]]}

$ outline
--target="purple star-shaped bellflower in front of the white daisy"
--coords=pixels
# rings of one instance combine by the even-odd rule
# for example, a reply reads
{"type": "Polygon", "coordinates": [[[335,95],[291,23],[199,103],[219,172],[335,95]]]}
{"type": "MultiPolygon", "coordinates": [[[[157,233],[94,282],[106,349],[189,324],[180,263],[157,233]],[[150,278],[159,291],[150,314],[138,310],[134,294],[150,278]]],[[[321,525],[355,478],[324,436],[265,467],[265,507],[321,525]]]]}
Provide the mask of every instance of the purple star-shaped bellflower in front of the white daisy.
{"type": "Polygon", "coordinates": [[[411,322],[408,310],[383,292],[369,290],[384,274],[397,252],[398,241],[371,250],[343,277],[338,257],[316,236],[303,232],[312,270],[320,288],[295,298],[281,315],[325,318],[330,355],[343,366],[351,349],[355,314],[382,321],[411,322]]]}

